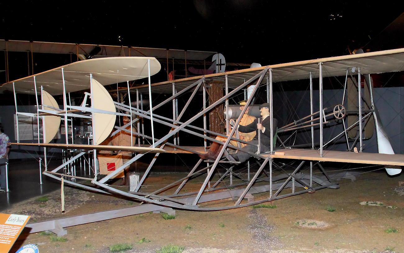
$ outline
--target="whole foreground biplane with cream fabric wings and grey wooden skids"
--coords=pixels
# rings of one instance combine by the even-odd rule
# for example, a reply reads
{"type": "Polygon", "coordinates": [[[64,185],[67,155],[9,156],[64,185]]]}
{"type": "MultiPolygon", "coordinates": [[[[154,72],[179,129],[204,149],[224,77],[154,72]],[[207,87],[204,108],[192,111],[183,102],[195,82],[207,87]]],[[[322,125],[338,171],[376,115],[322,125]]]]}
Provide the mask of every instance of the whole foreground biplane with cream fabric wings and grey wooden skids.
{"type": "MultiPolygon", "coordinates": [[[[42,129],[38,127],[38,136],[42,136],[42,139],[38,138],[38,143],[22,143],[17,136],[17,143],[12,145],[43,147],[45,163],[46,148],[69,150],[69,157],[59,167],[52,170],[45,168],[43,171],[44,175],[58,180],[63,177],[70,179],[64,181],[67,184],[106,194],[119,194],[139,202],[194,211],[246,207],[306,192],[313,193],[323,188],[335,189],[339,188],[338,179],[352,178],[352,175],[345,172],[329,173],[322,166],[323,162],[378,164],[384,166],[389,175],[401,173],[404,155],[394,154],[383,129],[373,101],[370,75],[403,71],[404,48],[268,65],[151,84],[150,76],[159,70],[160,63],[151,57],[88,59],[4,84],[2,87],[13,91],[15,96],[27,93],[36,97],[36,113],[19,112],[16,103],[17,124],[19,115],[35,118],[38,125],[42,121],[42,129]],[[329,77],[345,78],[339,89],[341,98],[333,101],[334,104],[324,101],[324,80],[329,77]],[[141,78],[148,78],[149,84],[133,87],[127,85],[127,89],[118,90],[127,95],[125,102],[113,101],[103,87],[141,78]],[[296,81],[309,87],[307,92],[310,103],[304,107],[299,105],[305,116],[293,120],[282,119],[282,116],[289,113],[284,111],[286,102],[282,100],[280,94],[283,91],[279,87],[285,82],[291,82],[293,86],[296,81]],[[318,85],[318,89],[314,89],[314,85],[318,85]],[[90,93],[84,93],[80,105],[72,105],[68,94],[86,89],[90,89],[90,93]],[[131,93],[137,95],[134,101],[130,99],[131,93]],[[153,104],[153,94],[162,93],[166,94],[164,99],[153,104]],[[143,108],[139,94],[149,96],[149,110],[143,108]],[[53,95],[63,96],[63,109],[59,109],[53,95]],[[41,102],[38,97],[41,97],[41,102]],[[197,101],[200,97],[202,102],[197,101]],[[238,110],[238,105],[231,105],[235,99],[242,100],[240,97],[246,99],[242,111],[238,110]],[[180,99],[183,104],[178,103],[180,99]],[[136,106],[133,106],[133,102],[136,102],[136,106]],[[251,172],[250,163],[246,167],[245,164],[222,157],[225,150],[242,152],[239,145],[229,144],[231,140],[248,144],[235,135],[237,126],[248,106],[254,108],[263,102],[270,104],[271,132],[276,131],[272,129],[274,117],[284,124],[278,124],[277,134],[271,137],[276,145],[271,146],[269,152],[250,154],[250,161],[257,164],[257,169],[251,172]],[[116,125],[117,116],[129,120],[126,124],[116,125]],[[73,118],[83,118],[91,125],[91,141],[88,144],[75,144],[73,136],[67,134],[73,118]],[[234,127],[225,130],[223,126],[231,118],[234,119],[234,127]],[[65,126],[64,143],[50,143],[60,122],[64,122],[65,126]],[[131,126],[137,126],[135,131],[131,126]],[[368,129],[373,126],[379,153],[366,153],[363,142],[370,138],[368,129]],[[145,128],[150,131],[145,131],[145,128]],[[132,142],[130,146],[99,145],[106,138],[122,131],[136,137],[137,143],[132,142]],[[187,140],[180,141],[179,133],[185,133],[187,140]],[[306,140],[305,145],[297,143],[299,135],[304,136],[300,141],[306,140]],[[216,136],[223,137],[225,141],[218,141],[216,136]],[[189,143],[189,139],[196,145],[180,145],[180,142],[189,143]],[[201,158],[195,164],[188,164],[192,165],[192,169],[187,175],[164,182],[164,185],[157,188],[147,185],[147,179],[154,172],[153,166],[160,154],[183,153],[196,156],[206,152],[208,142],[223,145],[216,160],[201,158]],[[331,143],[338,142],[344,148],[333,150],[335,146],[331,143]],[[114,170],[101,174],[96,150],[134,152],[134,155],[114,170]],[[147,153],[154,155],[133,188],[131,186],[130,190],[120,190],[107,183],[133,162],[145,158],[147,153]],[[91,161],[81,158],[91,158],[91,161]],[[66,173],[66,168],[73,163],[76,164],[74,173],[66,173]],[[80,173],[84,164],[91,168],[87,176],[80,173]],[[91,185],[84,183],[88,181],[91,181],[91,185]]],[[[18,125],[16,127],[18,129],[18,125]]]]}

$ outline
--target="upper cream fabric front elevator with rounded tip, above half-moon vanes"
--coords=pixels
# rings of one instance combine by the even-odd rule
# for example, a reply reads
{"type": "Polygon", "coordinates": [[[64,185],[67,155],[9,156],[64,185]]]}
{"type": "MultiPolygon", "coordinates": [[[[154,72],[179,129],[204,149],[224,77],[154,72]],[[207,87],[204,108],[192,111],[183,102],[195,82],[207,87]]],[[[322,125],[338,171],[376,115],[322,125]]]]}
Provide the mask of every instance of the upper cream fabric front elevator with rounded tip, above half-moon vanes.
{"type": "Polygon", "coordinates": [[[38,93],[40,87],[52,94],[63,94],[63,80],[66,93],[90,89],[90,74],[103,85],[137,80],[160,71],[161,65],[154,57],[107,57],[77,61],[53,70],[21,78],[2,85],[3,88],[17,93],[34,93],[34,79],[38,93]],[[62,73],[63,69],[63,73],[62,73]]]}

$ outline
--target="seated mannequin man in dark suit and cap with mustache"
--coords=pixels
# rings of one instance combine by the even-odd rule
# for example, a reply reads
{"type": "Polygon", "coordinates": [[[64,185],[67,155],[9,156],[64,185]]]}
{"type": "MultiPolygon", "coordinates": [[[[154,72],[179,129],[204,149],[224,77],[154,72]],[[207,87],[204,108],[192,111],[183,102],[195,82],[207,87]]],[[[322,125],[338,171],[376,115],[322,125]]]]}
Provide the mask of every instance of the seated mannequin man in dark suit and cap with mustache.
{"type": "MultiPolygon", "coordinates": [[[[250,132],[253,129],[257,131],[257,135],[254,138],[254,140],[250,141],[251,144],[257,144],[260,145],[261,147],[261,152],[268,152],[271,150],[271,135],[274,136],[274,133],[271,133],[271,117],[269,117],[269,103],[263,103],[262,105],[259,106],[259,112],[261,114],[261,123],[258,123],[258,119],[254,120],[251,124],[248,124],[246,126],[239,126],[238,131],[240,132],[250,132]],[[258,136],[258,131],[261,130],[261,143],[258,142],[257,136],[258,136]]],[[[274,118],[274,132],[276,131],[276,128],[278,127],[278,120],[274,118]]],[[[234,161],[234,162],[245,162],[250,158],[250,154],[243,152],[243,151],[249,151],[249,152],[257,152],[258,147],[254,145],[246,145],[242,150],[238,150],[236,154],[230,155],[229,152],[225,151],[225,156],[227,160],[229,161],[234,161]]]]}

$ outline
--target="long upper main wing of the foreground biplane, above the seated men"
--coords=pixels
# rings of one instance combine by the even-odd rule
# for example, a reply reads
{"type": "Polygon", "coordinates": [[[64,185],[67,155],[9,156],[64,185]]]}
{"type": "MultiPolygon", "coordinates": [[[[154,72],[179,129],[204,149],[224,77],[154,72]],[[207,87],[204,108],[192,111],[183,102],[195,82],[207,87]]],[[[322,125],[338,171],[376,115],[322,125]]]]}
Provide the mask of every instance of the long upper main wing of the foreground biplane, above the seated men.
{"type": "MultiPolygon", "coordinates": [[[[248,80],[264,70],[265,67],[272,70],[273,82],[306,79],[309,77],[310,73],[313,78],[318,78],[320,75],[318,65],[320,63],[323,67],[323,77],[345,76],[347,74],[347,69],[351,69],[352,67],[360,67],[361,74],[398,72],[404,70],[404,48],[275,64],[245,70],[210,74],[205,75],[204,77],[208,80],[216,80],[224,83],[227,76],[229,87],[236,88],[244,80],[248,80]]],[[[151,91],[154,93],[172,93],[173,83],[175,83],[177,91],[181,91],[201,78],[202,76],[194,76],[151,84],[151,91]]],[[[148,92],[148,85],[139,85],[132,89],[139,89],[141,92],[148,92]]]]}

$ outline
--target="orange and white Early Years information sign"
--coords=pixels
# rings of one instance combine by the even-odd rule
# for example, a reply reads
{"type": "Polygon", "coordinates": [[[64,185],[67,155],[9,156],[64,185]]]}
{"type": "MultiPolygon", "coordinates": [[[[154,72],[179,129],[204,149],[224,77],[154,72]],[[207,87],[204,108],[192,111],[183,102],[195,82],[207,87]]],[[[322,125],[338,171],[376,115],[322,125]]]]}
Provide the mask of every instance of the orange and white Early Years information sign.
{"type": "Polygon", "coordinates": [[[31,216],[0,213],[0,252],[10,251],[29,217],[31,216]]]}

